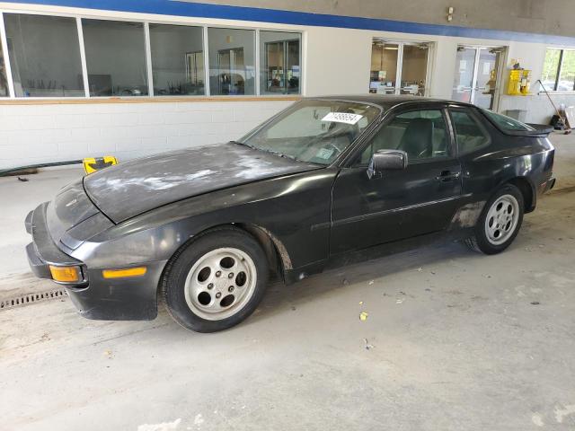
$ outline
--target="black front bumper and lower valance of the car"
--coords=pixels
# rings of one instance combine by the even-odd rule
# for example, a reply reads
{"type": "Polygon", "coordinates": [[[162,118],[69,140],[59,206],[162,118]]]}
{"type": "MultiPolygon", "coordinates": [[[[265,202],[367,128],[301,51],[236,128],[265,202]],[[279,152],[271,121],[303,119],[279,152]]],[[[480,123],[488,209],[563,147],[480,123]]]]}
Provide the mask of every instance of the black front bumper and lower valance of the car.
{"type": "MultiPolygon", "coordinates": [[[[166,260],[137,263],[146,266],[141,277],[107,279],[102,268],[89,268],[84,262],[61,251],[49,233],[46,223],[48,202],[31,211],[24,222],[32,242],[26,246],[28,262],[36,277],[52,279],[49,266],[77,266],[82,280],[75,283],[56,282],[66,287],[72,303],[87,319],[107,321],[153,320],[157,316],[157,286],[166,260]]],[[[111,256],[113,261],[113,256],[111,256]]],[[[110,267],[113,269],[113,264],[110,267]]]]}

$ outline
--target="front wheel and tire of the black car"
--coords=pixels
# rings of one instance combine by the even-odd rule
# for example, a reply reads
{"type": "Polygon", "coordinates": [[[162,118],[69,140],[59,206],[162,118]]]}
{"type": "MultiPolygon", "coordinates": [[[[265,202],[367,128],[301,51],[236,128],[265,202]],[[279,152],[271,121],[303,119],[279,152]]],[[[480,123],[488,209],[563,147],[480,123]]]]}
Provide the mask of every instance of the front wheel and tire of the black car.
{"type": "Polygon", "coordinates": [[[162,278],[162,297],[173,320],[188,330],[216,332],[255,311],[270,269],[248,233],[222,227],[201,233],[176,252],[162,278]]]}

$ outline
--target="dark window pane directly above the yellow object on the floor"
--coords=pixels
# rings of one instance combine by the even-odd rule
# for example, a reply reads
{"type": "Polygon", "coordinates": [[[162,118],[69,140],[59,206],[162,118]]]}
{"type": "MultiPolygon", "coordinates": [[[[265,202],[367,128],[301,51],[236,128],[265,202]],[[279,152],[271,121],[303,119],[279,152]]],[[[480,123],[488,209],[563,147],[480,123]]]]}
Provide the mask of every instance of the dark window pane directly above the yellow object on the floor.
{"type": "Polygon", "coordinates": [[[91,96],[147,95],[144,24],[82,20],[91,96]]]}

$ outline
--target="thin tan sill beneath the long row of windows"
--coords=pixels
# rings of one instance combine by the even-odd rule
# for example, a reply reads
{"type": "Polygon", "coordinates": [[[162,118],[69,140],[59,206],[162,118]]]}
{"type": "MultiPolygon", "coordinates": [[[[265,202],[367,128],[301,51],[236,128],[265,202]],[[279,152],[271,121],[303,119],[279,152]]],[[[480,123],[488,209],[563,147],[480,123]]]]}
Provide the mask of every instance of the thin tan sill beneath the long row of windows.
{"type": "Polygon", "coordinates": [[[0,99],[0,105],[89,105],[102,103],[181,103],[208,101],[299,101],[301,95],[279,96],[128,96],[128,97],[69,97],[69,98],[32,98],[0,99]]]}

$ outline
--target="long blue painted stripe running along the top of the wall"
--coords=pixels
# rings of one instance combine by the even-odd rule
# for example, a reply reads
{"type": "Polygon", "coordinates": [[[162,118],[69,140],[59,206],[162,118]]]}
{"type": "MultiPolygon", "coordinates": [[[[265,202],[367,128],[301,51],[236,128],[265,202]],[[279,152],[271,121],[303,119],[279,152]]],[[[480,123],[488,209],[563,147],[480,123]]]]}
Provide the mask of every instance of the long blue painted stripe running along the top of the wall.
{"type": "Polygon", "coordinates": [[[336,27],[374,31],[395,31],[411,34],[454,36],[461,38],[514,40],[557,45],[575,45],[575,38],[551,34],[473,29],[455,25],[423,24],[376,18],[361,18],[324,13],[305,13],[230,6],[224,4],[189,3],[178,0],[13,0],[14,4],[44,4],[81,7],[104,11],[155,13],[199,18],[217,18],[237,21],[274,22],[280,24],[336,27]]]}

